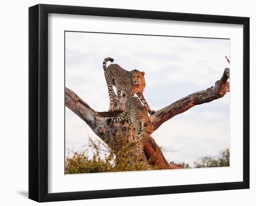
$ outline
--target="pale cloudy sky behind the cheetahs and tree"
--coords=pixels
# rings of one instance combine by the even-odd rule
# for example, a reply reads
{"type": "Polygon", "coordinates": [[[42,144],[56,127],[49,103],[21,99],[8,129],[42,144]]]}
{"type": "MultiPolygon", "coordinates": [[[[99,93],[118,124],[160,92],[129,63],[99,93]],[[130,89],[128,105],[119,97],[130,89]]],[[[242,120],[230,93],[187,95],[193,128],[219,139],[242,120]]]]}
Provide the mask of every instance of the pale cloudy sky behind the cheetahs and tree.
{"type": "MultiPolygon", "coordinates": [[[[145,72],[144,96],[153,110],[214,86],[229,67],[230,40],[66,32],[66,86],[96,111],[109,107],[102,61],[145,72]]],[[[159,127],[152,137],[168,161],[193,162],[229,148],[229,104],[223,98],[195,106],[159,127]]],[[[66,149],[82,150],[88,136],[99,139],[66,107],[66,149]]]]}

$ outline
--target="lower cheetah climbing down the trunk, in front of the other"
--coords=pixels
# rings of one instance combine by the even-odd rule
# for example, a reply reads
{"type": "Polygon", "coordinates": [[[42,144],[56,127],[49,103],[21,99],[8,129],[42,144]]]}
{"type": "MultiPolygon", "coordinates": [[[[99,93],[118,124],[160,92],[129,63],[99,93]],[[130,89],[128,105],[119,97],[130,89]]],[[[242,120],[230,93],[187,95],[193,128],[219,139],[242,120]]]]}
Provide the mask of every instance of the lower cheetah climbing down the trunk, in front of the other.
{"type": "Polygon", "coordinates": [[[115,119],[109,119],[108,122],[120,122],[128,117],[129,123],[129,141],[133,142],[134,129],[135,141],[137,145],[137,154],[140,160],[145,159],[143,151],[144,143],[147,138],[153,133],[154,127],[148,118],[148,110],[146,106],[141,104],[138,97],[130,97],[126,99],[125,111],[115,119]]]}

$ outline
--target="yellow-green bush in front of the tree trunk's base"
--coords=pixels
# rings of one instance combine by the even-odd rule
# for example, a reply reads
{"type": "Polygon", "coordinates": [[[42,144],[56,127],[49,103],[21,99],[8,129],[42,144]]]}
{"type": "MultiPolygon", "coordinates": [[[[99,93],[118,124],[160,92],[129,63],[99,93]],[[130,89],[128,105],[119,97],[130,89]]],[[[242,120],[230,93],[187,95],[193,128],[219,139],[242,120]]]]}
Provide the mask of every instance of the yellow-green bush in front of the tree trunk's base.
{"type": "MultiPolygon", "coordinates": [[[[118,148],[110,149],[101,141],[89,139],[87,149],[70,152],[65,159],[65,173],[107,173],[170,169],[170,166],[145,165],[135,155],[135,143],[122,141],[118,148]],[[89,153],[92,153],[91,155],[89,153]]],[[[148,160],[151,164],[151,160],[148,160]]]]}

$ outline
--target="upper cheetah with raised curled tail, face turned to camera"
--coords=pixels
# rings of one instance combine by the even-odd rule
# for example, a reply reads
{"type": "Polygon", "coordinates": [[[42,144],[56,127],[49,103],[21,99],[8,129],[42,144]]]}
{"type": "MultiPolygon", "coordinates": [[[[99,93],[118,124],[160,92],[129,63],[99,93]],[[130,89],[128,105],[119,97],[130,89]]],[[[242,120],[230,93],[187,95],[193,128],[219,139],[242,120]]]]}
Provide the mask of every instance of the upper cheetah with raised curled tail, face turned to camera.
{"type": "Polygon", "coordinates": [[[114,59],[108,57],[103,61],[103,69],[105,74],[105,79],[108,85],[108,95],[110,99],[110,105],[108,111],[113,111],[114,99],[113,99],[113,85],[116,87],[117,91],[117,105],[121,108],[121,93],[127,98],[137,94],[141,102],[147,107],[148,113],[155,113],[154,110],[151,110],[148,106],[147,101],[143,96],[143,90],[146,86],[144,79],[144,72],[140,72],[136,69],[132,71],[127,71],[118,64],[110,64],[107,67],[107,62],[113,62],[114,59]]]}

